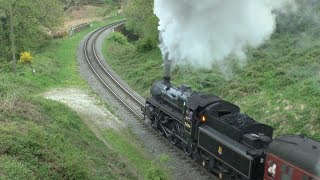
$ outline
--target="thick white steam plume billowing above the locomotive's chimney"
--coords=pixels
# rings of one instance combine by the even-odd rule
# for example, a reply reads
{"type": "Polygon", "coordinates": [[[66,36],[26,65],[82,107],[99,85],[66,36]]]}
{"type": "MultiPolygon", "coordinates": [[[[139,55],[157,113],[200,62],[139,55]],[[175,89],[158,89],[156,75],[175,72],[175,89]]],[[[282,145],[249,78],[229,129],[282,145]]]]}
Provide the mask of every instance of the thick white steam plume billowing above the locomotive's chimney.
{"type": "Polygon", "coordinates": [[[174,64],[211,68],[229,55],[245,59],[275,29],[274,10],[290,0],[155,0],[160,48],[174,64]]]}

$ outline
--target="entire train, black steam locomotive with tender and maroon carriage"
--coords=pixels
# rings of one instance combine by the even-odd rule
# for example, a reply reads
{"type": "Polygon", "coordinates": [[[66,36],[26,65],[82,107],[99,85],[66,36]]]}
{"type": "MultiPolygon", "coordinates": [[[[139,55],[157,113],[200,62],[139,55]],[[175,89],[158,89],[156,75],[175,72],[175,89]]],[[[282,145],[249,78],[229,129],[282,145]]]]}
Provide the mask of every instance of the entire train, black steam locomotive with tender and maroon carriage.
{"type": "Polygon", "coordinates": [[[273,128],[218,96],[155,82],[143,114],[151,126],[220,179],[319,180],[320,142],[272,139],[273,128]]]}

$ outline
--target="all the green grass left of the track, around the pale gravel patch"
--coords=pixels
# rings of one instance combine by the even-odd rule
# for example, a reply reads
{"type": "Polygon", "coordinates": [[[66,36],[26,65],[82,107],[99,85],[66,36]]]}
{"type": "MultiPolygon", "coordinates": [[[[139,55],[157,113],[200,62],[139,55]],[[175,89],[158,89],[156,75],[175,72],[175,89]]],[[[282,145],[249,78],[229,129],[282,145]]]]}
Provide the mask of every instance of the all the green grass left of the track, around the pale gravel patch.
{"type": "MultiPolygon", "coordinates": [[[[94,23],[79,34],[55,40],[34,55],[32,67],[19,64],[18,75],[0,73],[1,178],[137,178],[132,173],[135,170],[120,160],[122,154],[108,149],[75,112],[39,95],[50,88],[86,88],[78,72],[77,47],[84,35],[105,23],[94,23]]],[[[128,151],[136,149],[125,145],[128,151]]],[[[134,163],[130,166],[138,166],[134,163]]],[[[164,174],[158,166],[154,169],[164,174]]]]}

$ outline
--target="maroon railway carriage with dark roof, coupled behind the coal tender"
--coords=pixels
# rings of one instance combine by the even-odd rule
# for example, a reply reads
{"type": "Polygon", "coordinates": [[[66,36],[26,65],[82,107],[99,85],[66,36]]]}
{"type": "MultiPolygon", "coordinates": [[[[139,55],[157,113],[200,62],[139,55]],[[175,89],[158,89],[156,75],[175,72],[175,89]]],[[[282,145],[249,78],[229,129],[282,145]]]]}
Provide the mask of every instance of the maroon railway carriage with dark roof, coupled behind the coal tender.
{"type": "Polygon", "coordinates": [[[283,135],[268,147],[264,180],[320,180],[320,142],[283,135]]]}

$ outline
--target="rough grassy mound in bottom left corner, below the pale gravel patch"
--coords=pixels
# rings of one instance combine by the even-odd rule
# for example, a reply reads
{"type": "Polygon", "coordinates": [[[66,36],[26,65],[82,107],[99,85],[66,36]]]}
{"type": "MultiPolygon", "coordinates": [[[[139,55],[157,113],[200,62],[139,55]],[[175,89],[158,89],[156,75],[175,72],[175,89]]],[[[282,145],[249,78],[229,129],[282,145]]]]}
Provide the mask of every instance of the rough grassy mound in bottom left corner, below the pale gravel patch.
{"type": "Polygon", "coordinates": [[[79,116],[63,104],[42,98],[19,98],[8,103],[0,108],[2,177],[135,177],[119,162],[118,155],[107,149],[79,116]]]}

